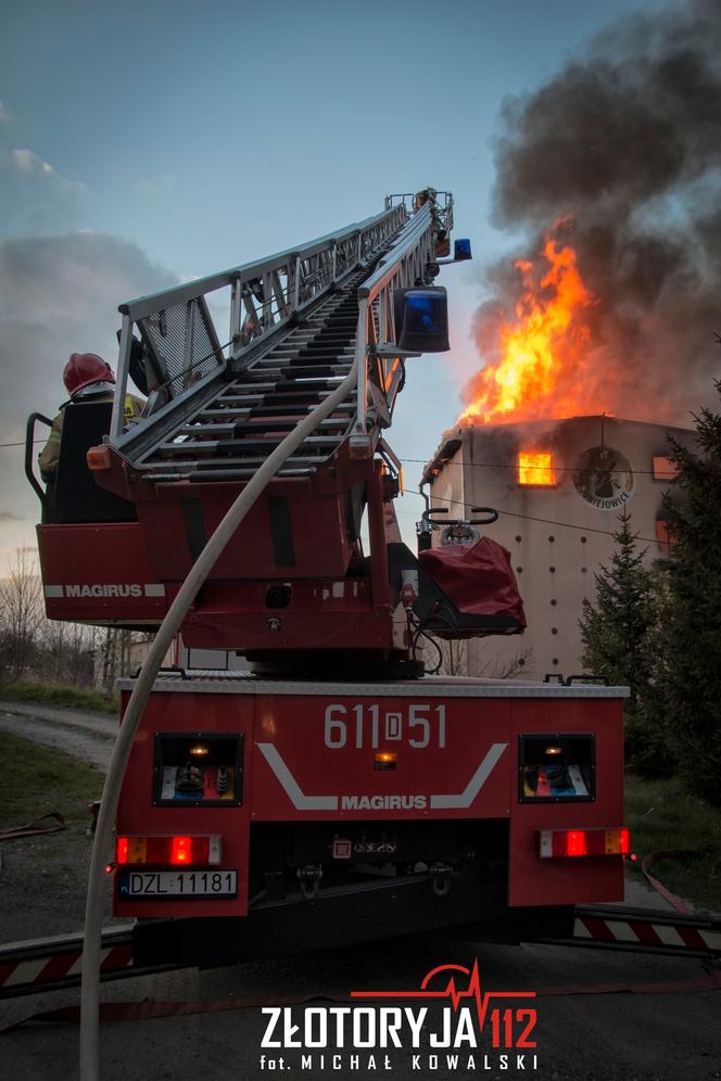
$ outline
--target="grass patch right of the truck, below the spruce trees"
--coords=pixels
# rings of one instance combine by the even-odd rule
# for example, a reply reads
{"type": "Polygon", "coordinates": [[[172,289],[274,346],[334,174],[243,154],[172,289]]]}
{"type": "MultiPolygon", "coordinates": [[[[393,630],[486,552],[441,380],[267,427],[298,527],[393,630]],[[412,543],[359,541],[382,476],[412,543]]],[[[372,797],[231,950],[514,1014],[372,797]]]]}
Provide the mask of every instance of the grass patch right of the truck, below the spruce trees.
{"type": "Polygon", "coordinates": [[[721,912],[721,810],[690,796],[675,779],[627,774],[625,821],[638,874],[641,857],[649,852],[694,849],[700,854],[659,860],[649,872],[696,907],[721,912]]]}

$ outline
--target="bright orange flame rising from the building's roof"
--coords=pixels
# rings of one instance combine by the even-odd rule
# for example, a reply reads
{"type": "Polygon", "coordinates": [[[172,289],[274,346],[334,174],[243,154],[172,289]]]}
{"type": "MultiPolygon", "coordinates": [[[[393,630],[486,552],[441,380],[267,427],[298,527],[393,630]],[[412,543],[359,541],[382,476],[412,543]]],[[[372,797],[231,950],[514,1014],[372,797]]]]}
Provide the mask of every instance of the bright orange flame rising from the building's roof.
{"type": "Polygon", "coordinates": [[[584,285],[569,244],[559,245],[548,233],[542,258],[547,269],[540,281],[543,266],[515,264],[523,285],[515,319],[499,322],[498,360],[471,379],[466,389],[470,405],[460,423],[557,419],[586,405],[583,368],[591,332],[585,314],[596,297],[584,285]]]}

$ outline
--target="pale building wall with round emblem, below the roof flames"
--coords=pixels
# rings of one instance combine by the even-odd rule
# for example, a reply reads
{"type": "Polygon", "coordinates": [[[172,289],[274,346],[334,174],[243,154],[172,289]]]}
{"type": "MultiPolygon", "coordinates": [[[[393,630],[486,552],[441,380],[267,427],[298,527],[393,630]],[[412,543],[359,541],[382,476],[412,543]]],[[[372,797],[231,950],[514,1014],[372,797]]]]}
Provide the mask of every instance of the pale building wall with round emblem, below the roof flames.
{"type": "MultiPolygon", "coordinates": [[[[608,417],[465,428],[446,433],[427,471],[437,475],[431,503],[463,517],[471,506],[491,506],[498,521],[486,534],[510,552],[523,598],[528,629],[522,636],[477,639],[469,647],[469,673],[521,677],[580,673],[579,620],[584,597],[595,599],[594,572],[614,551],[611,534],[625,508],[631,529],[653,563],[666,550],[657,522],[662,494],[672,486],[668,468],[654,475],[654,457],[669,454],[666,433],[693,445],[686,429],[608,417]],[[452,457],[442,448],[459,446],[452,457]],[[518,453],[549,452],[556,483],[519,484],[518,453]],[[443,460],[447,458],[447,460],[443,460]]],[[[657,467],[661,465],[657,462],[657,467]]],[[[450,516],[452,517],[452,516],[450,516]]]]}

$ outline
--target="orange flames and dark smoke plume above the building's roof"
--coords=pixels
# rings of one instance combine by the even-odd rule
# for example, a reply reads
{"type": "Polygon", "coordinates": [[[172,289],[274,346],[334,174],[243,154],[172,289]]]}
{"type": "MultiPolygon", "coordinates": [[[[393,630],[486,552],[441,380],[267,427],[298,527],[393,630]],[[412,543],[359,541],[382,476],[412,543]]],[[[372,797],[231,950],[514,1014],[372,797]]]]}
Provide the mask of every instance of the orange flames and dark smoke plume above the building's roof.
{"type": "Polygon", "coordinates": [[[623,16],[504,103],[492,216],[522,237],[485,267],[461,422],[688,425],[712,404],[720,56],[721,2],[684,0],[623,16]]]}

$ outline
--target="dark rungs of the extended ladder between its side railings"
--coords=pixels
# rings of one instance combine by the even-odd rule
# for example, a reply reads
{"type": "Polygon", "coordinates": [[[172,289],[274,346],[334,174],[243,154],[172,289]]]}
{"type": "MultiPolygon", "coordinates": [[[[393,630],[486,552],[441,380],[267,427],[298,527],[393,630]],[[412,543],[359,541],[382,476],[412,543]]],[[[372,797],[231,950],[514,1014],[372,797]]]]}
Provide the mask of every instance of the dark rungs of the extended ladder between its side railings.
{"type": "MultiPolygon", "coordinates": [[[[370,268],[372,269],[372,268],[370,268]]],[[[136,468],[152,483],[228,481],[252,476],[298,423],[336,390],[351,370],[358,318],[357,289],[369,268],[354,275],[313,315],[242,373],[204,402],[172,437],[136,468]]],[[[355,420],[349,395],[321,421],[280,470],[308,476],[328,461],[355,420]]]]}

